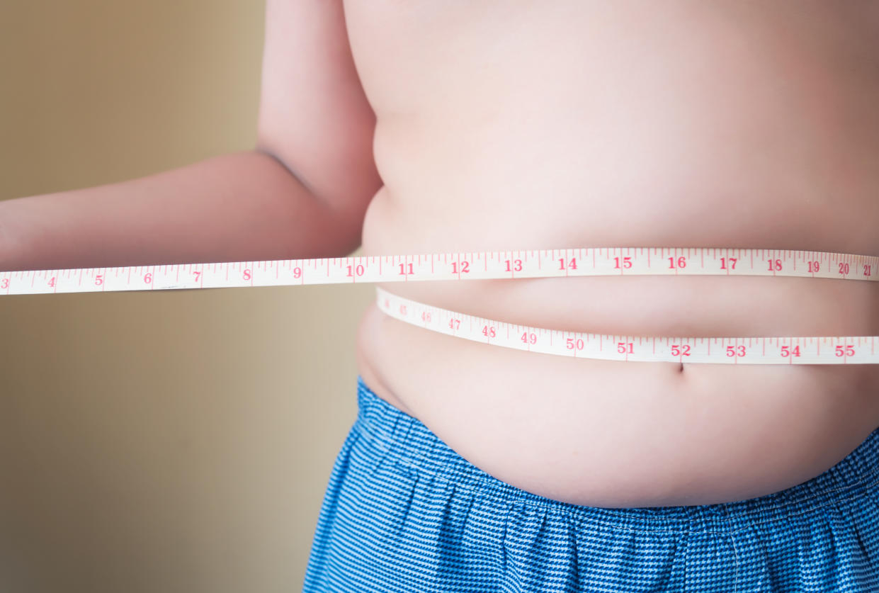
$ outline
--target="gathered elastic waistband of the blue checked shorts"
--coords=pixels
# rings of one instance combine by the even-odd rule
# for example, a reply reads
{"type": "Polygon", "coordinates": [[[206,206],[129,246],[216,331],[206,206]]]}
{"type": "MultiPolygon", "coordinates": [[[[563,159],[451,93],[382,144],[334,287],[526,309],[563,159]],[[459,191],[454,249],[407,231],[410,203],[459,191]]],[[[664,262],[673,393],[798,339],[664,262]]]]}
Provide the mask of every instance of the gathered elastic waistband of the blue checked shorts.
{"type": "Polygon", "coordinates": [[[879,481],[879,428],[839,464],[795,487],[744,501],[718,504],[605,509],[556,501],[502,482],[461,458],[421,421],[379,398],[358,377],[359,412],[354,428],[383,454],[412,468],[478,488],[502,504],[550,507],[572,520],[638,531],[732,533],[870,493],[879,481]]]}

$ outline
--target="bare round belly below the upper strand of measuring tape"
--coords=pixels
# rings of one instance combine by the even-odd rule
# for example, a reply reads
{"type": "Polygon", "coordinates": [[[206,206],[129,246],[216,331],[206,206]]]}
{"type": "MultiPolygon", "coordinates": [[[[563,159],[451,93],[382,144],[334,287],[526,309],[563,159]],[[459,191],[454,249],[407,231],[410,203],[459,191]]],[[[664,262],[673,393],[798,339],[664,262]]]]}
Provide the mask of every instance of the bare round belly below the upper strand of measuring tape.
{"type": "MultiPolygon", "coordinates": [[[[366,245],[364,251],[404,253],[366,245]]],[[[872,283],[777,280],[382,286],[454,311],[571,331],[879,335],[872,283]],[[752,310],[725,309],[725,300],[708,296],[733,304],[746,299],[752,310]]],[[[432,333],[374,305],[360,324],[358,366],[381,398],[484,471],[535,494],[592,506],[708,504],[769,494],[836,464],[879,426],[875,365],[572,359],[432,333]]]]}

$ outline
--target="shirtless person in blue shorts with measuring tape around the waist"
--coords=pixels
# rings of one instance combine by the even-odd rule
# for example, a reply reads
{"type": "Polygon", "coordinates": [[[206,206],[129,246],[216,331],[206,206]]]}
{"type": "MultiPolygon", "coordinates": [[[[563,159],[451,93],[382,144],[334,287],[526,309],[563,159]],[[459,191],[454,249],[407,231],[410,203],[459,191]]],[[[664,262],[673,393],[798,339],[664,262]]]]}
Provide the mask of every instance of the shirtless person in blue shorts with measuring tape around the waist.
{"type": "MultiPolygon", "coordinates": [[[[268,0],[256,149],[0,203],[0,268],[879,253],[873,4],[453,4],[268,0]]],[[[879,334],[872,282],[382,288],[572,332],[879,334]]],[[[879,589],[872,365],[578,360],[377,307],[357,356],[306,590],[879,589]]]]}

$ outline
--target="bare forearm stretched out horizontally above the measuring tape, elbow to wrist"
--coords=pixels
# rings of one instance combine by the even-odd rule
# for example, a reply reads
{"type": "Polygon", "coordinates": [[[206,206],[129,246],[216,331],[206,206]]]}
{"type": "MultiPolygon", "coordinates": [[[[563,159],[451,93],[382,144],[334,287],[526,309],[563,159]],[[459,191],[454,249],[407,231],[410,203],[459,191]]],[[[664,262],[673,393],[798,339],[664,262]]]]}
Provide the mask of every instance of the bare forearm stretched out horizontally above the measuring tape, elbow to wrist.
{"type": "Polygon", "coordinates": [[[246,151],[111,185],[0,201],[0,270],[342,256],[360,224],[246,151]]]}

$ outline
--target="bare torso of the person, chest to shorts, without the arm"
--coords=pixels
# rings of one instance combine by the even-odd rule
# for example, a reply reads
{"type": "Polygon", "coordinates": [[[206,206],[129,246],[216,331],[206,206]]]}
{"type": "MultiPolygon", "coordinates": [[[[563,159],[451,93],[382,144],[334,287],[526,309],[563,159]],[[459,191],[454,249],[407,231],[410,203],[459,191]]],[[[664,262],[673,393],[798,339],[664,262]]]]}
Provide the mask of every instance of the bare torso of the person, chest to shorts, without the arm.
{"type": "MultiPolygon", "coordinates": [[[[384,187],[363,253],[609,246],[879,254],[872,3],[345,2],[384,187]]],[[[879,286],[613,277],[383,288],[522,325],[879,335],[879,286]]],[[[879,367],[601,362],[370,307],[381,398],[514,486],[592,506],[734,501],[809,480],[879,426],[879,367]]]]}

